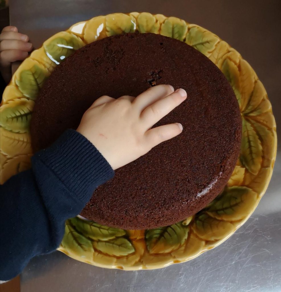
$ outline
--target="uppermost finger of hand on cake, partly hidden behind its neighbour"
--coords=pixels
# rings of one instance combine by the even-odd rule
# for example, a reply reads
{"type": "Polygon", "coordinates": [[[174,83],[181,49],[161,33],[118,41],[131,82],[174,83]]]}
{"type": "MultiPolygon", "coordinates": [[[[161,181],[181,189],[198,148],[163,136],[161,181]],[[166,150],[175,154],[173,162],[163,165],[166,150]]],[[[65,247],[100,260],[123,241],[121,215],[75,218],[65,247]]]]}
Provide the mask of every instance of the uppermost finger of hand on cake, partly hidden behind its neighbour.
{"type": "Polygon", "coordinates": [[[136,97],[133,104],[142,112],[146,107],[152,105],[156,100],[166,97],[174,91],[173,86],[161,84],[147,89],[136,97]]]}

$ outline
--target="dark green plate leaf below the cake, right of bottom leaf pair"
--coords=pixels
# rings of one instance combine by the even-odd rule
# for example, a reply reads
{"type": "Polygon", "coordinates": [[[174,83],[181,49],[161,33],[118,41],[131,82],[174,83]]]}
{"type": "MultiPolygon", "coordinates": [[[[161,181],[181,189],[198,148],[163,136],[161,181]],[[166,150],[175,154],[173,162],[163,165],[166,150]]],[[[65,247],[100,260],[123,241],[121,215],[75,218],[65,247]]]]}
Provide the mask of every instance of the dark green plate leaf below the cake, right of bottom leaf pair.
{"type": "Polygon", "coordinates": [[[169,253],[181,246],[187,239],[189,228],[181,222],[147,230],[145,238],[150,253],[169,253]]]}

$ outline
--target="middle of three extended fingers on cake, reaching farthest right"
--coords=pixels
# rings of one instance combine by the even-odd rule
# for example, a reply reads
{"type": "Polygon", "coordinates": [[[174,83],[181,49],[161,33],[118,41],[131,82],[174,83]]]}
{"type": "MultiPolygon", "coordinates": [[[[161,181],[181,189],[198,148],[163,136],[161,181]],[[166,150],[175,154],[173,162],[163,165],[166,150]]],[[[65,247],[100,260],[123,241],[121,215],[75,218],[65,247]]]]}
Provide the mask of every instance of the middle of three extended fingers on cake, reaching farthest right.
{"type": "Polygon", "coordinates": [[[152,105],[147,107],[140,115],[145,127],[150,128],[159,120],[165,117],[175,107],[180,105],[187,97],[184,89],[177,89],[175,92],[166,96],[163,99],[157,100],[152,105]]]}

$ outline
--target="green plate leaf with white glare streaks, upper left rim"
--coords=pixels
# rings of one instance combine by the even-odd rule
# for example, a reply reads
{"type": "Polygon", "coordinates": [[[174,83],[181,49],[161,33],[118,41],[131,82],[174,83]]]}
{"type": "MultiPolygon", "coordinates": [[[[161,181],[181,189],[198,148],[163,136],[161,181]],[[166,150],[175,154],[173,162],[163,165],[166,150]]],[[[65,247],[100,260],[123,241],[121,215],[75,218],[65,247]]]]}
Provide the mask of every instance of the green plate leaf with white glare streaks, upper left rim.
{"type": "Polygon", "coordinates": [[[85,44],[74,34],[67,34],[65,37],[57,37],[49,43],[44,43],[47,56],[57,65],[82,46],[85,44]]]}

